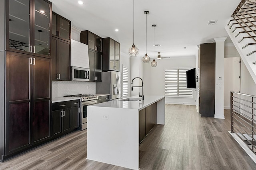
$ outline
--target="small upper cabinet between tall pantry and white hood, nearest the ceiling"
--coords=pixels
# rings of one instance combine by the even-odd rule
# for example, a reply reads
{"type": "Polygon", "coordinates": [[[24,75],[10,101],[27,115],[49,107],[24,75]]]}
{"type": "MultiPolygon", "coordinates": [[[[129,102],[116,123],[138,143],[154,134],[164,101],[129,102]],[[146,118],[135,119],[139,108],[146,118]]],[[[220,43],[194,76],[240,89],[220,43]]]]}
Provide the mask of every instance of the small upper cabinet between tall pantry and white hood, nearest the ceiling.
{"type": "Polygon", "coordinates": [[[52,36],[71,42],[71,21],[52,12],[52,36]]]}

